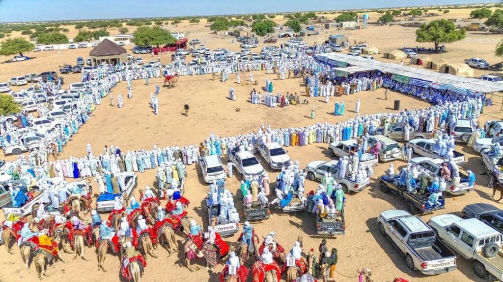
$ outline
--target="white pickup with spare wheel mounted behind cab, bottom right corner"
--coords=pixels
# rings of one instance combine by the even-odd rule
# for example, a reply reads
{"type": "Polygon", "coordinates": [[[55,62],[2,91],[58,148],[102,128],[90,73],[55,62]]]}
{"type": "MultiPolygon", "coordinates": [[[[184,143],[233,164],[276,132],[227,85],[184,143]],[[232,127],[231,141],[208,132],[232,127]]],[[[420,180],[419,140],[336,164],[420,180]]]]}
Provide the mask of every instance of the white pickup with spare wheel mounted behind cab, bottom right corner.
{"type": "Polygon", "coordinates": [[[477,276],[503,281],[503,238],[497,230],[476,218],[454,214],[434,216],[428,224],[443,242],[473,263],[477,276]]]}

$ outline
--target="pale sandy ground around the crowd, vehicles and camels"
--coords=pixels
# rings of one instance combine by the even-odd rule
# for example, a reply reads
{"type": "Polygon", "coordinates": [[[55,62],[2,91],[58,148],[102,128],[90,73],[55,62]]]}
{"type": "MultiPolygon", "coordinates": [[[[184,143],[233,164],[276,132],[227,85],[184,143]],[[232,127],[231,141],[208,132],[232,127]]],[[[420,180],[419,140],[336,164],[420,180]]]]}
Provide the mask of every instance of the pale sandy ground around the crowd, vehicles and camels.
{"type": "MultiPolygon", "coordinates": [[[[457,10],[451,11],[458,12],[457,10]]],[[[460,10],[461,11],[461,10],[460,10]]],[[[451,15],[450,15],[451,16],[451,15]]],[[[450,18],[450,17],[449,17],[450,18]]],[[[229,38],[222,35],[210,34],[203,24],[183,27],[182,31],[190,31],[190,39],[208,39],[206,43],[210,48],[226,47],[238,49],[237,44],[230,43],[229,38]]],[[[175,30],[176,31],[176,30],[175,30]]],[[[379,47],[381,52],[403,47],[404,44],[414,45],[414,29],[401,27],[370,27],[368,30],[344,32],[350,36],[350,40],[367,41],[371,45],[379,47]]],[[[332,32],[330,32],[332,34],[332,32]]],[[[326,39],[325,35],[309,38],[308,42],[326,39]]],[[[478,35],[470,33],[467,39],[459,43],[448,45],[449,52],[442,55],[448,60],[458,60],[471,56],[480,56],[490,61],[493,46],[500,39],[495,35],[478,35]],[[474,53],[476,51],[476,53],[474,53]]],[[[279,45],[279,43],[278,43],[279,45]]],[[[257,49],[259,50],[259,49],[257,49]]],[[[58,55],[56,51],[39,52],[30,54],[36,56],[34,60],[27,62],[0,64],[0,80],[5,81],[14,75],[22,75],[28,71],[39,73],[45,70],[56,70],[63,62],[72,63],[76,57],[86,57],[90,49],[67,50],[58,55]]],[[[144,60],[150,56],[143,55],[144,60]]],[[[167,56],[162,57],[163,63],[167,62],[167,56]]],[[[276,80],[275,75],[267,75],[262,72],[254,74],[259,85],[241,86],[235,83],[235,77],[231,76],[226,83],[211,80],[211,76],[182,77],[175,89],[161,89],[160,114],[155,116],[149,106],[149,94],[154,90],[155,83],[161,83],[160,79],[150,80],[150,86],[144,85],[144,81],[133,83],[133,98],[124,100],[124,108],[110,107],[108,99],[103,100],[101,106],[93,113],[90,121],[83,125],[79,132],[65,147],[62,158],[70,156],[83,156],[86,154],[86,144],[91,143],[95,152],[101,152],[104,145],[119,146],[123,151],[134,149],[149,149],[153,144],[160,146],[186,146],[198,144],[214,131],[221,136],[247,133],[256,130],[261,123],[271,124],[273,128],[286,126],[303,126],[314,122],[337,122],[354,117],[352,112],[357,98],[362,99],[361,114],[374,112],[393,112],[393,100],[400,99],[402,109],[427,107],[428,104],[410,97],[390,93],[388,100],[384,100],[383,91],[364,92],[342,98],[331,98],[328,104],[318,98],[308,98],[309,105],[289,106],[287,108],[269,108],[264,105],[249,103],[249,91],[254,87],[261,91],[265,78],[273,80],[274,91],[297,92],[304,95],[304,88],[299,79],[276,80]],[[227,99],[228,89],[233,86],[236,89],[237,101],[227,99]],[[182,115],[183,104],[188,101],[191,106],[189,117],[182,115]],[[344,117],[331,115],[333,103],[345,101],[347,114],[344,117]],[[314,120],[307,118],[310,107],[317,109],[314,120]],[[235,109],[240,108],[239,112],[235,109]]],[[[77,81],[79,75],[66,75],[66,83],[77,81]]],[[[247,79],[247,75],[241,75],[241,80],[247,79]]],[[[113,91],[116,97],[119,93],[124,96],[127,93],[126,85],[120,84],[113,91]]],[[[499,100],[496,100],[499,101],[499,100]]],[[[487,108],[487,112],[480,118],[480,123],[488,119],[501,118],[500,104],[487,108]]],[[[293,160],[299,160],[304,168],[308,162],[315,160],[330,160],[325,144],[314,144],[307,147],[287,148],[288,154],[293,160]]],[[[427,221],[434,215],[444,213],[457,213],[470,203],[484,202],[501,207],[500,203],[491,198],[491,190],[485,186],[487,178],[480,176],[483,172],[480,159],[476,152],[465,146],[458,146],[458,151],[467,154],[467,164],[462,166],[464,170],[472,170],[477,175],[477,187],[468,195],[452,197],[446,200],[446,209],[433,214],[422,216],[427,221]]],[[[8,156],[6,159],[12,159],[8,156]]],[[[393,162],[395,168],[405,165],[403,162],[393,162]]],[[[374,169],[374,177],[382,175],[388,164],[380,164],[374,169]]],[[[271,172],[274,179],[277,172],[271,172]]],[[[147,171],[138,175],[138,187],[143,189],[145,185],[153,185],[155,171],[147,171]]],[[[233,177],[226,183],[226,188],[231,192],[238,189],[238,178],[233,177]]],[[[306,181],[310,191],[317,187],[317,183],[306,181]]],[[[94,185],[96,187],[96,185],[94,185]]],[[[95,191],[96,192],[96,191],[95,191]]],[[[188,168],[186,182],[186,197],[190,199],[191,206],[189,215],[196,219],[205,228],[208,224],[207,213],[204,208],[204,197],[208,192],[208,186],[202,181],[198,166],[188,168]]],[[[137,195],[137,191],[135,191],[137,195]]],[[[239,204],[240,197],[235,199],[237,209],[242,213],[239,204]]],[[[471,264],[463,259],[457,260],[458,269],[452,273],[437,276],[424,276],[419,272],[410,271],[404,263],[404,258],[396,251],[391,243],[380,235],[377,230],[376,218],[387,209],[405,209],[405,205],[392,195],[384,195],[378,188],[375,179],[370,188],[359,193],[347,196],[346,221],[347,233],[328,240],[328,246],[339,250],[337,281],[356,281],[357,269],[371,267],[373,278],[376,281],[390,281],[393,277],[406,277],[411,281],[481,281],[472,271],[471,264]],[[343,276],[345,275],[345,276],[343,276]],[[349,277],[347,277],[349,276],[349,277]]],[[[107,216],[107,214],[103,214],[107,216]]],[[[276,240],[286,249],[290,249],[297,235],[304,235],[304,251],[311,247],[315,250],[320,243],[319,238],[311,237],[315,234],[314,220],[305,212],[296,214],[281,214],[273,209],[269,220],[254,223],[254,228],[259,236],[265,236],[270,231],[276,231],[276,240]]],[[[181,245],[181,236],[177,236],[181,245]]],[[[225,239],[230,244],[236,244],[237,235],[225,239]]],[[[29,274],[22,265],[22,259],[17,247],[15,254],[9,255],[4,248],[0,248],[0,281],[37,281],[36,274],[29,274]]],[[[156,250],[159,258],[148,257],[148,265],[145,269],[142,281],[217,281],[218,272],[222,265],[216,267],[214,272],[208,272],[202,267],[201,270],[190,273],[183,266],[183,254],[165,257],[167,252],[158,247],[156,250]]],[[[86,257],[89,262],[72,259],[73,255],[63,254],[69,258],[68,264],[57,262],[56,268],[48,268],[49,278],[44,280],[58,281],[104,281],[120,279],[120,261],[116,256],[107,255],[105,267],[106,273],[97,272],[97,260],[95,248],[86,248],[86,257]]],[[[316,256],[318,254],[316,253],[316,256]]],[[[204,266],[203,261],[198,262],[204,266]]],[[[34,266],[31,265],[34,272],[34,266]]]]}

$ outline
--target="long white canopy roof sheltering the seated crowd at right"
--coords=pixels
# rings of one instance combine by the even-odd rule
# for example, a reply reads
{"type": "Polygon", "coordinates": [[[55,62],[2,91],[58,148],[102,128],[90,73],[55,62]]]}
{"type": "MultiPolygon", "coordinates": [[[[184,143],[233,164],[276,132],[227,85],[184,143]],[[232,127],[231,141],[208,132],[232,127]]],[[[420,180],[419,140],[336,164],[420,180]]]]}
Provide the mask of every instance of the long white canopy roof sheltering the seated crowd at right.
{"type": "MultiPolygon", "coordinates": [[[[459,77],[452,74],[433,72],[422,68],[400,66],[399,64],[384,63],[362,57],[353,57],[347,54],[333,52],[315,55],[314,58],[331,66],[336,66],[333,64],[336,62],[341,65],[346,64],[350,66],[374,68],[383,73],[398,74],[409,78],[428,81],[430,84],[452,85],[465,90],[470,90],[471,93],[491,93],[503,91],[503,83],[459,77]]],[[[412,79],[409,79],[409,83],[410,81],[412,81],[412,79]]]]}

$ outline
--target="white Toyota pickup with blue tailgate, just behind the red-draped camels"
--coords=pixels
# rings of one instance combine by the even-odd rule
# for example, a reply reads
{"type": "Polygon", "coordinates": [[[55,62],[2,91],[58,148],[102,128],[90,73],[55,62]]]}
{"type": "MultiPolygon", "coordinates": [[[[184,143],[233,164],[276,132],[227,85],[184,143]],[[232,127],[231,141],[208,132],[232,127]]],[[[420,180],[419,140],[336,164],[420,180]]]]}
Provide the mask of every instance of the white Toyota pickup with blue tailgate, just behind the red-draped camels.
{"type": "Polygon", "coordinates": [[[115,197],[120,197],[123,201],[129,199],[134,188],[138,186],[138,179],[134,172],[122,172],[115,174],[119,184],[120,194],[104,193],[96,199],[96,210],[99,212],[111,211],[114,208],[115,197]]]}

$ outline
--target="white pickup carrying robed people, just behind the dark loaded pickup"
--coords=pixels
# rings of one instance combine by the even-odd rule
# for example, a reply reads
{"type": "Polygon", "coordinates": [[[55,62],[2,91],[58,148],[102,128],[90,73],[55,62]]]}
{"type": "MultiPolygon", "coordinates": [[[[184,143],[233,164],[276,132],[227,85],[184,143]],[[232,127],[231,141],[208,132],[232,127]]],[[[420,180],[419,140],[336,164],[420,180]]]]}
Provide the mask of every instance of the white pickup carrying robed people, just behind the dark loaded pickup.
{"type": "MultiPolygon", "coordinates": [[[[425,157],[418,157],[418,158],[412,158],[410,160],[412,164],[418,165],[422,168],[425,169],[425,171],[432,176],[432,178],[439,177],[441,178],[442,175],[440,173],[441,171],[441,166],[442,163],[444,163],[443,160],[440,159],[431,159],[431,158],[425,158],[425,157]]],[[[461,195],[468,193],[470,191],[475,190],[475,185],[470,185],[468,181],[463,181],[462,179],[466,179],[468,176],[466,176],[463,173],[459,173],[460,181],[459,183],[455,183],[454,180],[446,180],[447,184],[447,189],[445,190],[446,192],[452,194],[452,195],[461,195]]]]}

